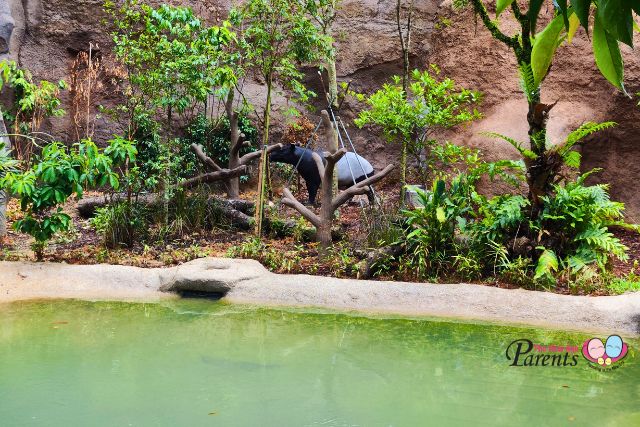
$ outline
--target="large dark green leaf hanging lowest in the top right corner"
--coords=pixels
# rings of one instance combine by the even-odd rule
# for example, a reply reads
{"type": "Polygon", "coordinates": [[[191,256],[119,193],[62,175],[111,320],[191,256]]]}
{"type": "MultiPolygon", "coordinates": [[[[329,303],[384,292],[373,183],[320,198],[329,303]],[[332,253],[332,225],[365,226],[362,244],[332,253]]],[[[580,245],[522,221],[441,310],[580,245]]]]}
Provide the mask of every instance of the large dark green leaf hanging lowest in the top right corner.
{"type": "Polygon", "coordinates": [[[624,64],[620,46],[615,37],[605,31],[599,14],[596,14],[593,25],[593,55],[602,75],[612,85],[626,93],[623,81],[624,64]]]}

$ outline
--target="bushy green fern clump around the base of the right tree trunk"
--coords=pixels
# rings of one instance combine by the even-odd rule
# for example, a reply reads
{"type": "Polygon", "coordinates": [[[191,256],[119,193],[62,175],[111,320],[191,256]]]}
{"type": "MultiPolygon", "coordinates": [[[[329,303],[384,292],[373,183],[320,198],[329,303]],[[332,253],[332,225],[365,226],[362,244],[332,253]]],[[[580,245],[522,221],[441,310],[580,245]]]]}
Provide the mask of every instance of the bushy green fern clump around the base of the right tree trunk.
{"type": "Polygon", "coordinates": [[[562,274],[584,280],[591,265],[606,271],[611,258],[628,258],[627,248],[608,227],[633,226],[624,223],[624,205],[610,200],[607,185],[584,184],[588,176],[554,185],[535,218],[528,215],[529,200],[520,195],[489,200],[480,209],[474,238],[502,246],[510,260],[534,260],[533,278],[543,283],[554,284],[562,274]]]}

